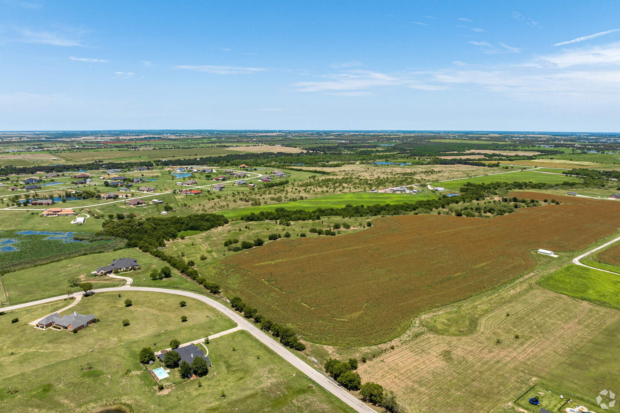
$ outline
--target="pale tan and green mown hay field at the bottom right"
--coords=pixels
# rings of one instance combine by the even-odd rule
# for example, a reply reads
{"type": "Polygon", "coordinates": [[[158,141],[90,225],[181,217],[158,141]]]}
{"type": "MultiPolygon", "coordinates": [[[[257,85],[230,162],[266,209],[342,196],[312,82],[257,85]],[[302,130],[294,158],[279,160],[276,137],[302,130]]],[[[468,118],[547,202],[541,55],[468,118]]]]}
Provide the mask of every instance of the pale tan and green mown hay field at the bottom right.
{"type": "Polygon", "coordinates": [[[598,412],[598,392],[620,386],[620,313],[526,285],[474,334],[425,334],[360,364],[362,382],[393,389],[412,412],[515,412],[534,383],[598,412]]]}

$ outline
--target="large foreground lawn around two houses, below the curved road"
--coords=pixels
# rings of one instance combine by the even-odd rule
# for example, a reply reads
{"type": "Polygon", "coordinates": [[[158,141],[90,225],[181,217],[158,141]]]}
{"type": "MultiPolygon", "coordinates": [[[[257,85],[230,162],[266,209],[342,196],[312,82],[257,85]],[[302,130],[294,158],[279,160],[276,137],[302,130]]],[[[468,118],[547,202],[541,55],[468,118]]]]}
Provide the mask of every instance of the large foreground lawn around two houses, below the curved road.
{"type": "MultiPolygon", "coordinates": [[[[136,413],[353,412],[318,386],[308,388],[312,382],[303,373],[244,331],[207,344],[215,369],[200,378],[201,387],[198,380],[175,380],[177,383],[169,391],[158,394],[156,383],[138,363],[142,347],[161,350],[169,347],[173,338],[189,342],[235,324],[211,306],[191,298],[130,291],[121,295],[110,292],[82,298],[70,311],[94,313],[101,321],[76,334],[40,331],[27,324],[67,302],[0,316],[0,387],[14,386],[18,390],[14,394],[0,392],[2,411],[89,412],[124,404],[136,413]],[[123,304],[126,298],[132,300],[132,306],[123,304]],[[187,301],[187,306],[179,306],[181,299],[187,301]],[[180,321],[182,315],[188,317],[186,323],[180,321]],[[14,317],[20,321],[12,324],[14,317]],[[130,320],[130,326],[122,326],[123,318],[130,320]],[[85,371],[87,363],[92,369],[85,371]],[[124,374],[126,370],[131,376],[124,374]]],[[[170,373],[175,377],[177,370],[170,373]]]]}

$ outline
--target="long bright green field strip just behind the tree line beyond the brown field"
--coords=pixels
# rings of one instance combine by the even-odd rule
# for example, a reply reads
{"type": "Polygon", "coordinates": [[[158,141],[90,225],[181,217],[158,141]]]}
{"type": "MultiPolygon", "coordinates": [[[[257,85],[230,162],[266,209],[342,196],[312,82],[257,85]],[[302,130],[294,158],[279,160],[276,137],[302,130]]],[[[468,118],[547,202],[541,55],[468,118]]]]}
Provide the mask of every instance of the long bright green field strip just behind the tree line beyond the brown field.
{"type": "Polygon", "coordinates": [[[432,193],[410,194],[384,194],[370,192],[353,192],[337,195],[320,196],[317,198],[304,199],[303,201],[281,202],[280,204],[270,204],[257,207],[245,207],[232,209],[231,211],[222,211],[225,217],[240,217],[248,215],[250,212],[274,211],[276,208],[287,209],[306,209],[312,210],[317,208],[342,208],[347,204],[355,205],[373,205],[373,204],[401,204],[402,202],[415,202],[420,199],[434,198],[432,193]]]}

